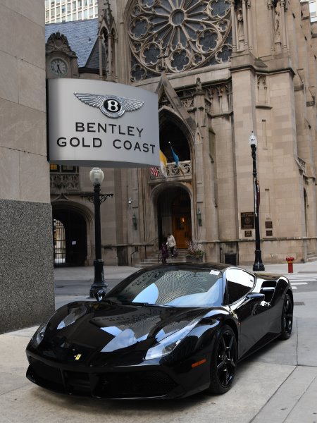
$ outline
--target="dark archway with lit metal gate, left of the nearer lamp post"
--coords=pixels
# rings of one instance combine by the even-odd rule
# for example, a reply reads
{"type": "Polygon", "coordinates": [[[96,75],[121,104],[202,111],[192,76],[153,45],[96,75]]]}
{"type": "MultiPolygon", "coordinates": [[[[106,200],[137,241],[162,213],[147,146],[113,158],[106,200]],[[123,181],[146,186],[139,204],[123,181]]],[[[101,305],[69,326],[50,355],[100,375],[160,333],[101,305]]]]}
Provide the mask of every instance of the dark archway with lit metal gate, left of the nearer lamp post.
{"type": "Polygon", "coordinates": [[[71,209],[53,208],[54,266],[85,266],[87,225],[71,209]]]}

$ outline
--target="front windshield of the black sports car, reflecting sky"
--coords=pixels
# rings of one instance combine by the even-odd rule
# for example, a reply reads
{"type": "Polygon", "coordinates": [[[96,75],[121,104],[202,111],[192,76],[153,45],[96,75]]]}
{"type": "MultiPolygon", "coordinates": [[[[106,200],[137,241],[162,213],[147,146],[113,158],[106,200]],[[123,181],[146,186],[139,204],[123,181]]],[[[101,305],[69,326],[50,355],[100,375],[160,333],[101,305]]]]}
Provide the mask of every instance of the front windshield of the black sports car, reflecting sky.
{"type": "Polygon", "coordinates": [[[216,269],[161,266],[125,279],[104,301],[170,307],[218,306],[223,302],[223,278],[216,269]]]}

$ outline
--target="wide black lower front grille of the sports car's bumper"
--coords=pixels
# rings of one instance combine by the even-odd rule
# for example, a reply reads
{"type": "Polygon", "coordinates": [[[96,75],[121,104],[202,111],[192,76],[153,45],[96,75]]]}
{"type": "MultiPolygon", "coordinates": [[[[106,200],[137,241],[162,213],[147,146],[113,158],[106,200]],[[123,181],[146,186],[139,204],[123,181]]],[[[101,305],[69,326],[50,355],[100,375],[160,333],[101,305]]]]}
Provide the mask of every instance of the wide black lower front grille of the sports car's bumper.
{"type": "Polygon", "coordinates": [[[53,391],[99,398],[166,396],[177,386],[168,374],[160,371],[73,372],[52,367],[32,357],[27,377],[53,391]]]}

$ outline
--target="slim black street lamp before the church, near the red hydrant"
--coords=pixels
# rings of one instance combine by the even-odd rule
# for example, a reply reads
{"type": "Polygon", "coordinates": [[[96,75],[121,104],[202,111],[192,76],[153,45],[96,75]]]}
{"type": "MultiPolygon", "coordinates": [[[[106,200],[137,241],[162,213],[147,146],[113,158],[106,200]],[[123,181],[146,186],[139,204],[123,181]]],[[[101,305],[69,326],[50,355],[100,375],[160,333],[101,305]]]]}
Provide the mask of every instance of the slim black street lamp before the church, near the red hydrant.
{"type": "Polygon", "coordinates": [[[253,264],[254,271],[265,270],[262,263],[261,246],[260,246],[260,226],[259,226],[259,208],[260,208],[260,192],[259,181],[256,178],[256,136],[251,132],[249,137],[249,144],[251,146],[251,156],[253,160],[253,189],[254,189],[254,226],[256,235],[256,249],[254,251],[255,259],[253,264]]]}

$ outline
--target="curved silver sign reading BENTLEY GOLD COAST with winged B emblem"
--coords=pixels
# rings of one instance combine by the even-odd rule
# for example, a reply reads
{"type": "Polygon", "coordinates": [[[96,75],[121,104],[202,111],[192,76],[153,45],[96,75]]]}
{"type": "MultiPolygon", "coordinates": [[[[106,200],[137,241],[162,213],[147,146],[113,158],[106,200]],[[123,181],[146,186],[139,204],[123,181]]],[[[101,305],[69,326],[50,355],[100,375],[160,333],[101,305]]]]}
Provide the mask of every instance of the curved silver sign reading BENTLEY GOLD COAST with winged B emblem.
{"type": "Polygon", "coordinates": [[[156,94],[115,82],[48,81],[49,161],[160,166],[156,94]]]}

